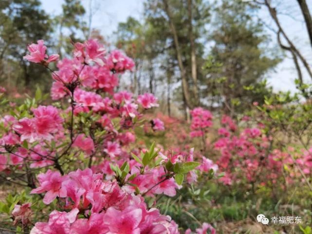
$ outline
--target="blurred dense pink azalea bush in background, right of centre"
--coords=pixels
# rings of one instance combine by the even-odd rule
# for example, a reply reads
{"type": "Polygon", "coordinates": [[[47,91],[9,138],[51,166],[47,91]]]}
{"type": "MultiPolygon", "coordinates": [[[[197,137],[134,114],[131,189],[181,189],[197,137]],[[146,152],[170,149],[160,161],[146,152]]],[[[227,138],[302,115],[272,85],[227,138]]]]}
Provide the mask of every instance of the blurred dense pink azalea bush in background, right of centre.
{"type": "Polygon", "coordinates": [[[221,178],[223,183],[232,184],[233,180],[239,182],[242,179],[255,182],[260,179],[263,170],[268,168],[269,139],[257,127],[239,130],[229,116],[223,116],[221,124],[214,148],[221,153],[217,164],[225,172],[221,178]]]}

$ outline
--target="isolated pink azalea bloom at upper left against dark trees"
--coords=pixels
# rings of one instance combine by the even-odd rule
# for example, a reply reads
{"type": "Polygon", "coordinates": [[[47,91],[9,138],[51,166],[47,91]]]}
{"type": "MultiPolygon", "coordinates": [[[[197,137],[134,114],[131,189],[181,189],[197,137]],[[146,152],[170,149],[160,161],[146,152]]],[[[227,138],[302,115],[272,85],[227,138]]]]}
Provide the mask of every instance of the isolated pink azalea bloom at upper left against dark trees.
{"type": "Polygon", "coordinates": [[[58,54],[52,54],[50,57],[46,54],[47,47],[44,45],[43,40],[38,40],[37,44],[30,44],[27,47],[30,54],[25,55],[23,58],[30,62],[41,63],[41,62],[54,62],[58,59],[58,54]],[[46,58],[48,58],[46,60],[46,58]]]}

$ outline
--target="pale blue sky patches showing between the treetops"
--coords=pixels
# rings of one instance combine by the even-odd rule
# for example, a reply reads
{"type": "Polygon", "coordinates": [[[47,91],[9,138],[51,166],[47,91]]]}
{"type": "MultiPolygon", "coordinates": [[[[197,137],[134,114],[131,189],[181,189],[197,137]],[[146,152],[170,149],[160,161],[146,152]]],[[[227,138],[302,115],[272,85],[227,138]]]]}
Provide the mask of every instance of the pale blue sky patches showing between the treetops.
{"type": "MultiPolygon", "coordinates": [[[[51,14],[57,15],[61,12],[61,4],[63,0],[41,0],[43,9],[51,14]]],[[[144,0],[92,0],[92,28],[99,29],[106,39],[110,40],[112,33],[116,30],[119,22],[125,21],[128,16],[140,19],[143,12],[144,0]]],[[[308,57],[308,61],[312,62],[312,48],[305,30],[303,18],[296,0],[275,0],[280,21],[286,32],[291,35],[295,45],[300,48],[302,54],[308,57]],[[290,17],[291,15],[291,17],[290,17]]],[[[312,7],[312,0],[307,0],[312,7]]],[[[87,15],[89,14],[90,0],[82,0],[87,15]]],[[[260,11],[260,16],[268,25],[267,30],[272,35],[272,44],[276,43],[274,33],[270,28],[275,28],[275,24],[267,13],[267,9],[260,11]]],[[[305,73],[304,73],[305,74],[305,73]]],[[[306,74],[305,74],[306,76],[306,74]]],[[[307,77],[307,76],[306,76],[307,77]]],[[[294,79],[296,72],[291,58],[286,58],[280,63],[275,72],[268,74],[269,84],[275,90],[295,90],[294,79]]],[[[310,81],[308,78],[307,81],[310,81]]]]}

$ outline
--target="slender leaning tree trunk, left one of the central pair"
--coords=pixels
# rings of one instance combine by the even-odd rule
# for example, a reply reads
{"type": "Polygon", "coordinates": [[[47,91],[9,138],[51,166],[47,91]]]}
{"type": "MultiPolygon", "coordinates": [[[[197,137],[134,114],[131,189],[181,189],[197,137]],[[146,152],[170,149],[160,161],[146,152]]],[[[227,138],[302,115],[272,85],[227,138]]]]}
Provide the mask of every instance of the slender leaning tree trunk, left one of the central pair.
{"type": "Polygon", "coordinates": [[[167,17],[169,19],[169,27],[170,27],[170,30],[171,30],[171,33],[172,33],[172,36],[174,39],[174,45],[176,48],[177,59],[178,59],[178,64],[179,64],[179,68],[180,68],[180,72],[181,72],[181,78],[182,78],[182,90],[184,93],[185,104],[187,107],[193,108],[193,105],[191,103],[191,97],[190,97],[189,90],[188,90],[186,72],[184,69],[183,61],[182,61],[182,54],[181,54],[181,50],[180,50],[178,34],[176,31],[175,25],[172,21],[172,15],[171,15],[167,0],[163,0],[163,3],[164,3],[164,7],[165,7],[165,12],[166,12],[167,17]]]}

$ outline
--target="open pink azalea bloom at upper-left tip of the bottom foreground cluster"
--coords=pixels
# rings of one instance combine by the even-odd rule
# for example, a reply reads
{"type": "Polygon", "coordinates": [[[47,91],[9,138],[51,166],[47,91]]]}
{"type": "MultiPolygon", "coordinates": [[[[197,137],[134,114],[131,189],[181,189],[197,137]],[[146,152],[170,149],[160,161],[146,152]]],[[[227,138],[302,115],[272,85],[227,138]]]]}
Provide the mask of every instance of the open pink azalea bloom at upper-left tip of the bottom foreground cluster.
{"type": "Polygon", "coordinates": [[[66,188],[62,186],[62,182],[66,177],[62,177],[58,171],[51,171],[40,173],[37,176],[40,186],[31,191],[31,194],[39,194],[47,192],[43,198],[43,203],[50,204],[56,197],[65,198],[66,188]]]}

